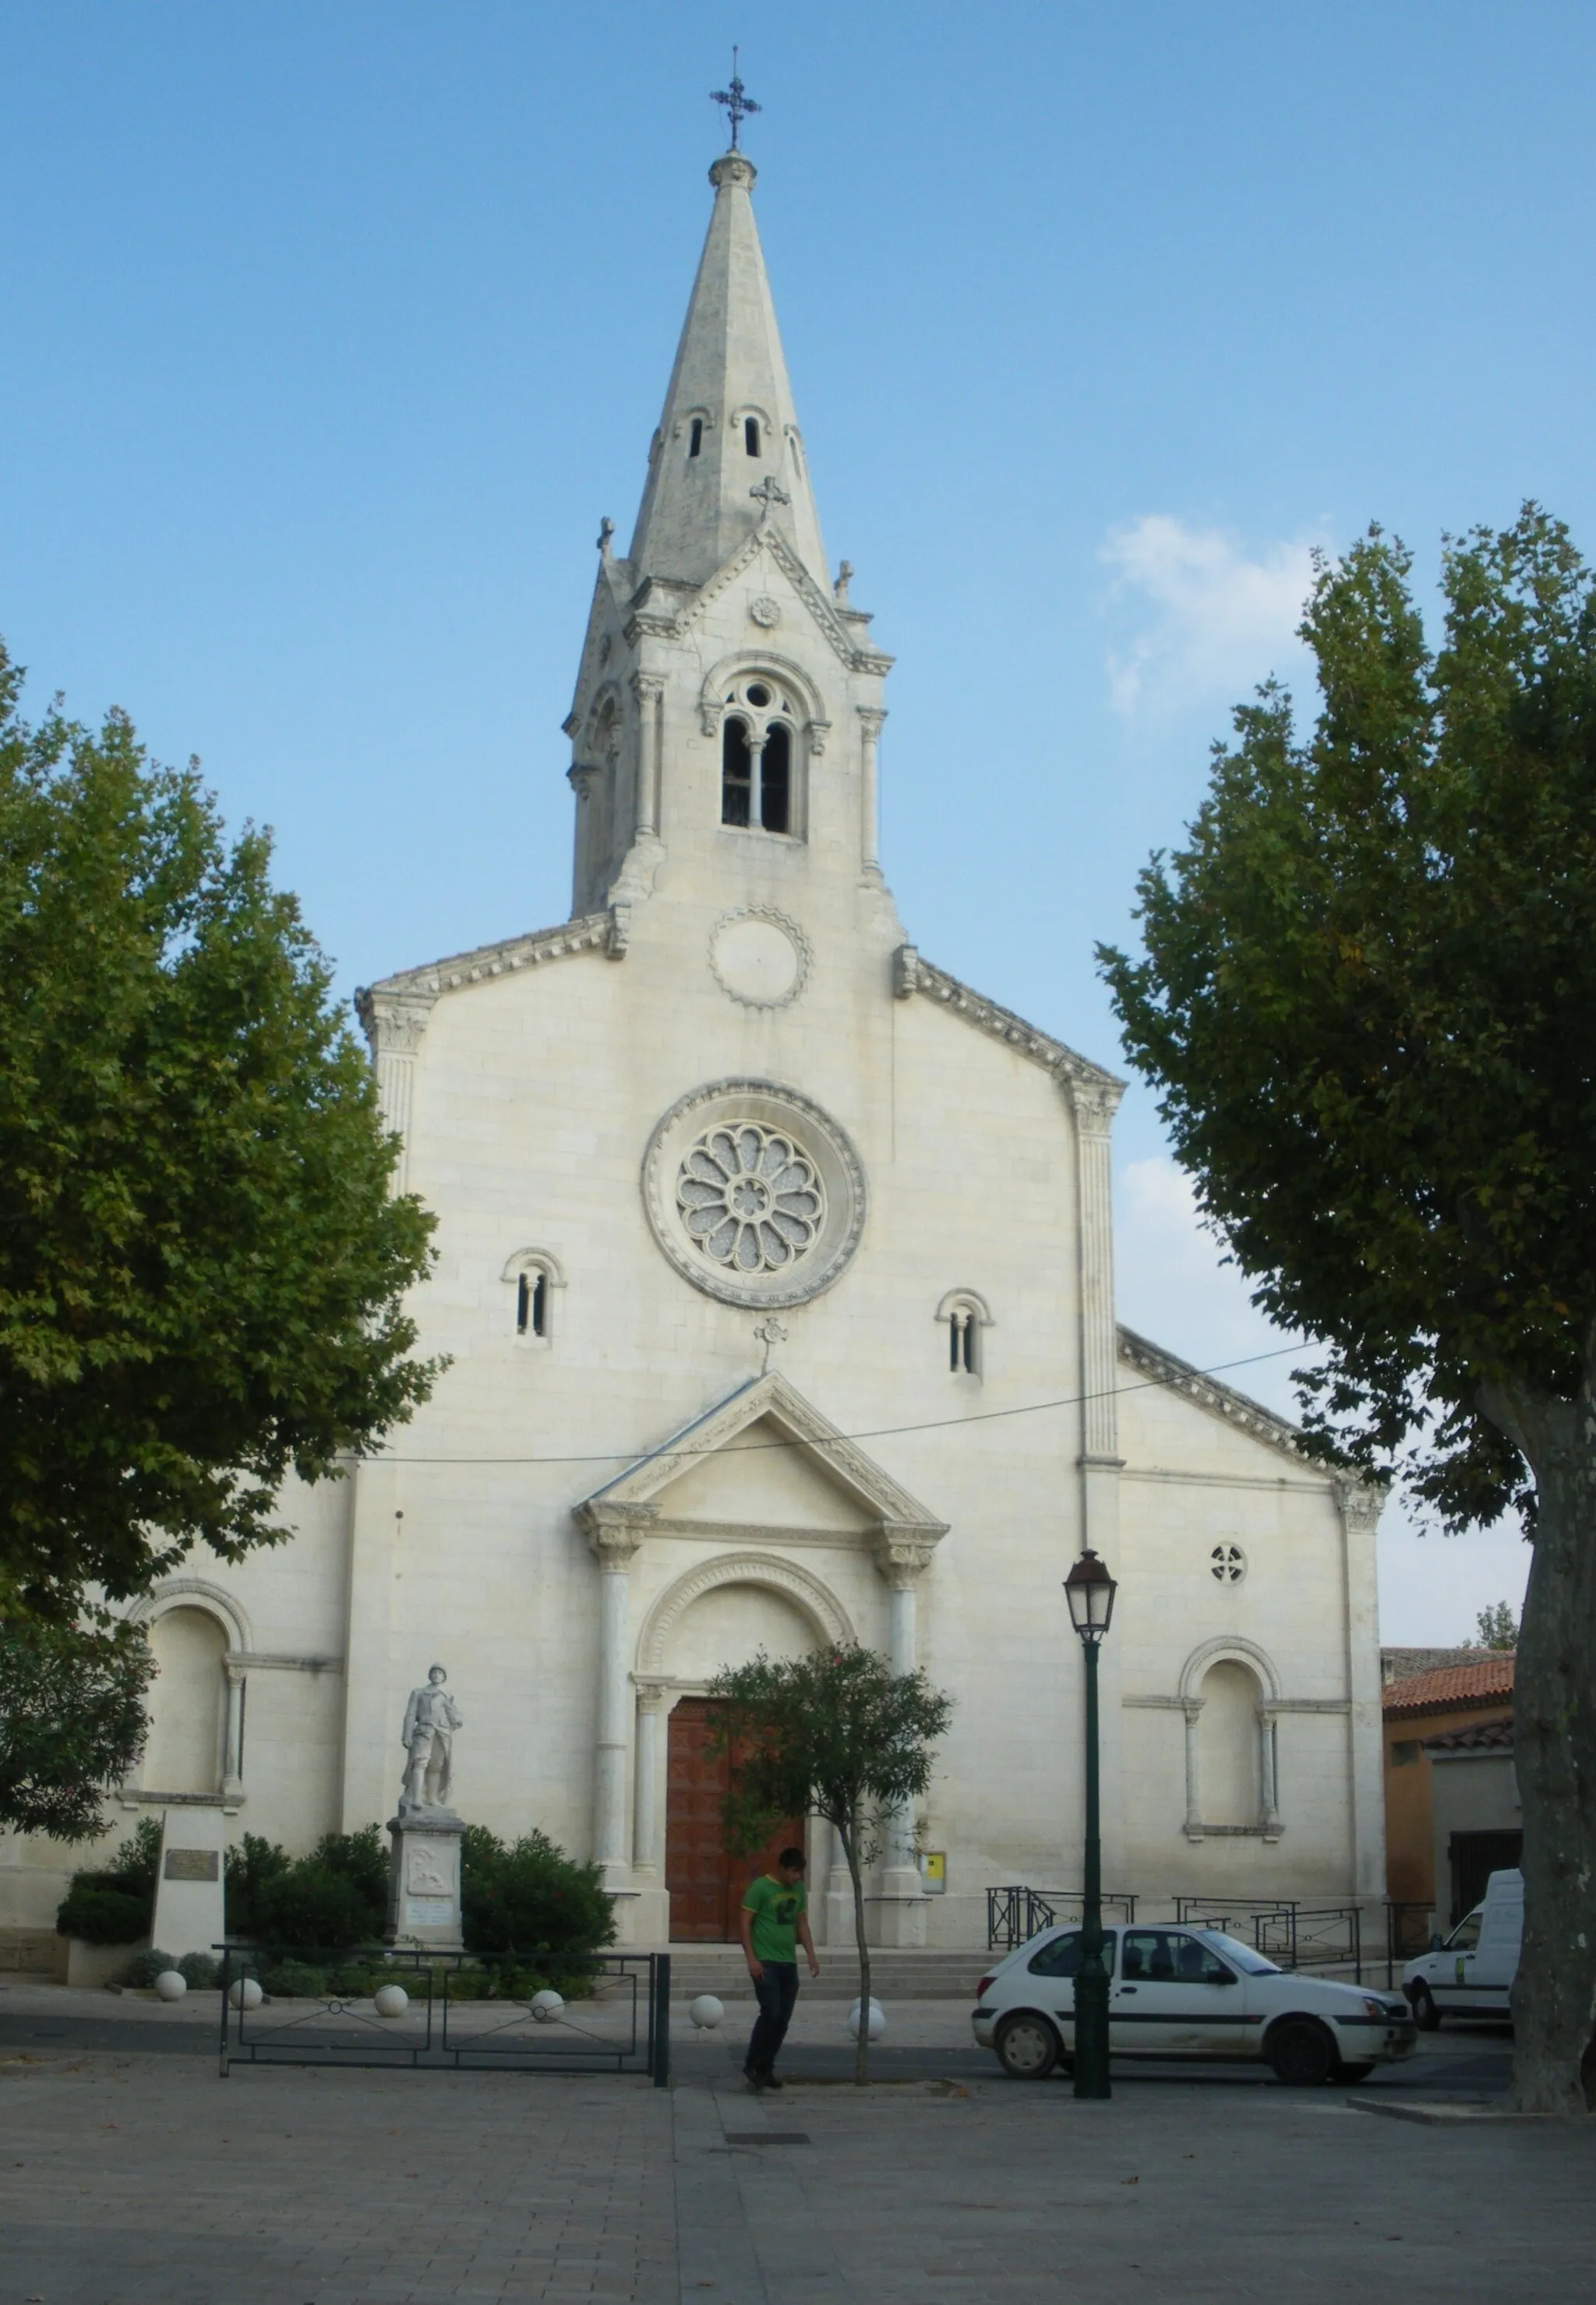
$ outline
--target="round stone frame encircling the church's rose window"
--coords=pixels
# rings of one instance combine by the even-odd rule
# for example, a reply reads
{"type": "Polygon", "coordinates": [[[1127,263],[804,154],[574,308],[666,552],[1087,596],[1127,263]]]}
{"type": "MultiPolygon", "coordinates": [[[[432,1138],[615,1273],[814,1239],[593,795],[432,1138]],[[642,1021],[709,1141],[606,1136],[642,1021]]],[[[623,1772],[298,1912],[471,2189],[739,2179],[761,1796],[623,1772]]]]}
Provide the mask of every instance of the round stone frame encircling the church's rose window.
{"type": "Polygon", "coordinates": [[[657,1120],[643,1150],[643,1212],[676,1270],[724,1305],[807,1305],[846,1270],[865,1231],[865,1166],[844,1129],[812,1097],[777,1081],[706,1081],[657,1120]],[[791,1136],[819,1171],[826,1215],[803,1259],[780,1270],[733,1272],[715,1263],[690,1235],[678,1208],[678,1180],[692,1146],[717,1123],[747,1120],[791,1136]]]}

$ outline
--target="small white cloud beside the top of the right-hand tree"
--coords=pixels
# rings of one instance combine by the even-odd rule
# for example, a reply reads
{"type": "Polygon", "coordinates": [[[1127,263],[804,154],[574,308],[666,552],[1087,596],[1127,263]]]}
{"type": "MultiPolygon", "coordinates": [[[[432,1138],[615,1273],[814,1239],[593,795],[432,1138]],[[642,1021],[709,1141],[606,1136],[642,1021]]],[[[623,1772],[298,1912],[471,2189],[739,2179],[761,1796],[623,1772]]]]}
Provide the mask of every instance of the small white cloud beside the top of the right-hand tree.
{"type": "Polygon", "coordinates": [[[1271,671],[1296,673],[1296,625],[1312,583],[1312,539],[1248,558],[1222,528],[1146,512],[1114,528],[1100,558],[1114,569],[1109,609],[1126,641],[1109,650],[1116,712],[1248,694],[1271,671]]]}

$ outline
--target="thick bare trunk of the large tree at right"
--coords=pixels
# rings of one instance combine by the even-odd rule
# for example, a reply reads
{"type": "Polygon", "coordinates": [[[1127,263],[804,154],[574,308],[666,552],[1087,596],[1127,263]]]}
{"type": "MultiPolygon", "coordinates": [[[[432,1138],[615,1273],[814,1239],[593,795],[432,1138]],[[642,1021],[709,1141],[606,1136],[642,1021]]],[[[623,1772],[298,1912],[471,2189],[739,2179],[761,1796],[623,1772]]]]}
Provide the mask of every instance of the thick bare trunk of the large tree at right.
{"type": "Polygon", "coordinates": [[[1536,1478],[1513,1673],[1525,1950],[1508,2102],[1584,2114],[1596,2111],[1596,1399],[1587,1374],[1573,1401],[1485,1385],[1481,1408],[1536,1478]]]}

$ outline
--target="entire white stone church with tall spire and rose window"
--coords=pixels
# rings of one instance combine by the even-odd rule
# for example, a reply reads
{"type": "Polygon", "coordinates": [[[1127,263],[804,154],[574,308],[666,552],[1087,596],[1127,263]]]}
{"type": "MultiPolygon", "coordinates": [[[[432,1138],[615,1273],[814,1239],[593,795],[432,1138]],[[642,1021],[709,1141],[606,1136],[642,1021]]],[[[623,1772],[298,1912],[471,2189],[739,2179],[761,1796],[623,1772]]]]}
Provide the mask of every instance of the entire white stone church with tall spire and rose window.
{"type": "MultiPolygon", "coordinates": [[[[747,1867],[706,1683],[858,1639],[957,1703],[874,1934],[978,1945],[989,1885],[1079,1883],[1063,1577],[1096,1547],[1105,1888],[1377,1899],[1377,1501],[1116,1328],[1121,1083],[899,924],[893,659],[828,576],[754,168],[710,182],[565,721],[572,917],[360,1003],[452,1365],[390,1454],[288,1498],[295,1542],[143,1604],[155,1731],[113,1823],[212,1803],[304,1849],[383,1821],[443,1662],[464,1816],[595,1856],[625,1943],[724,1939],[747,1867]]],[[[0,1920],[48,1927],[74,1862],[7,1842],[0,1920]]]]}

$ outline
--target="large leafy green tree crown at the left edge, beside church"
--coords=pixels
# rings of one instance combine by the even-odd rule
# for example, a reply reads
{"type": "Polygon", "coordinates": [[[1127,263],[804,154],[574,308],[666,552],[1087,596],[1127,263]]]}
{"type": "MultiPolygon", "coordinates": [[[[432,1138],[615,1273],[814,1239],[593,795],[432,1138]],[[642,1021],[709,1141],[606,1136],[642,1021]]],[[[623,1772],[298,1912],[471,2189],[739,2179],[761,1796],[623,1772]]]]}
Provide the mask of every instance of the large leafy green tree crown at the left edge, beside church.
{"type": "Polygon", "coordinates": [[[431,1219],[268,837],[18,692],[0,650],[0,1609],[67,1627],[427,1397],[431,1219]]]}

